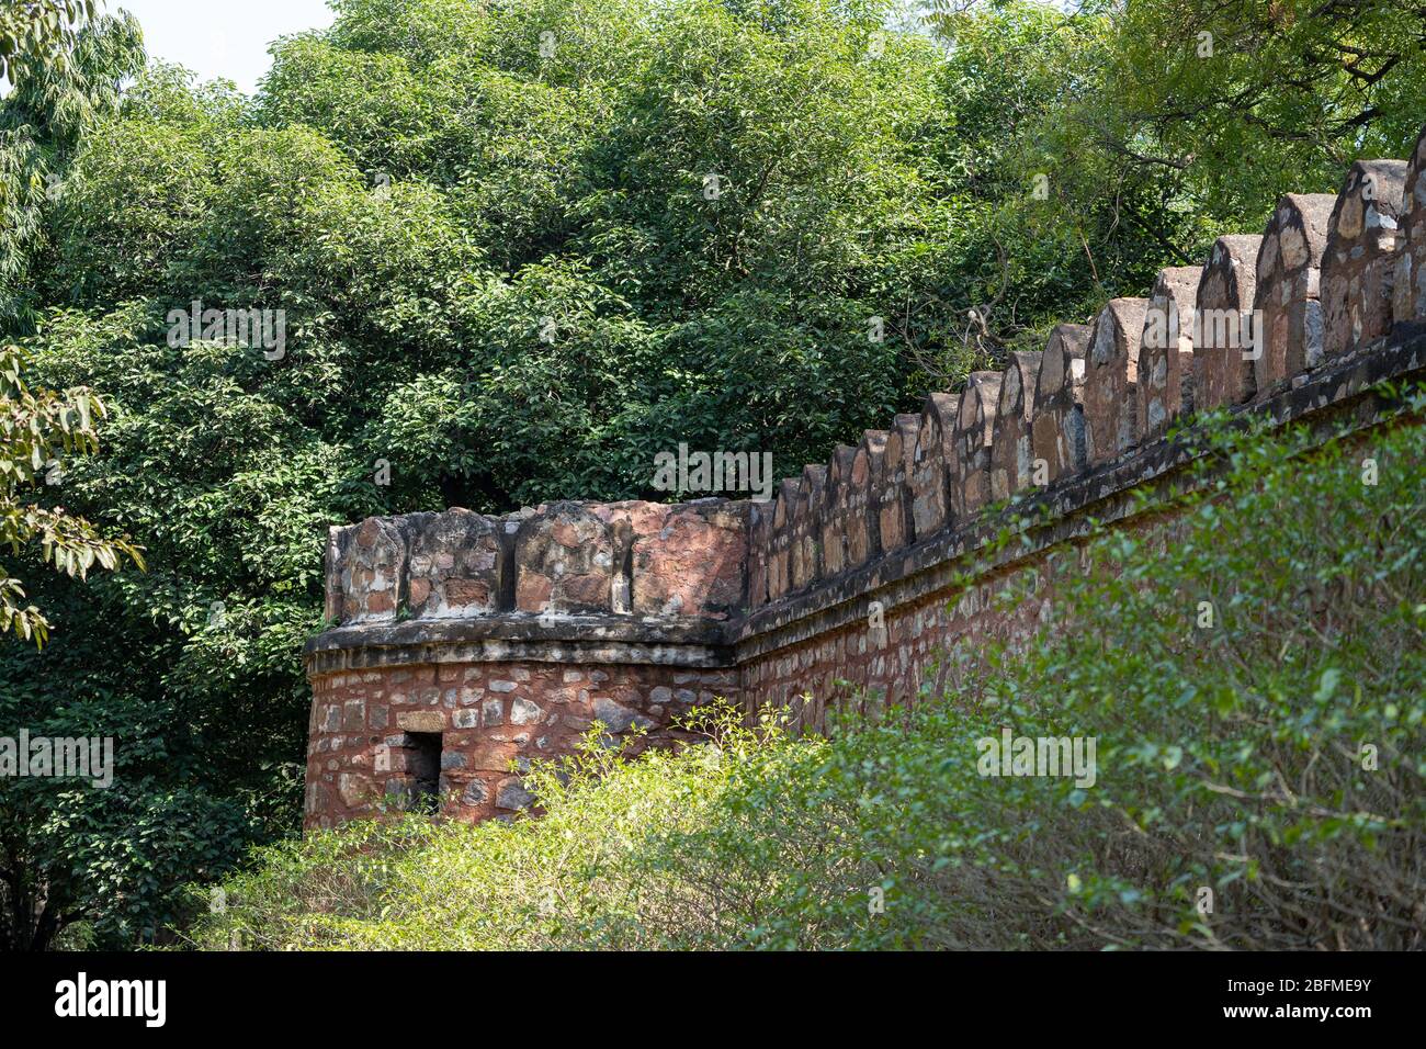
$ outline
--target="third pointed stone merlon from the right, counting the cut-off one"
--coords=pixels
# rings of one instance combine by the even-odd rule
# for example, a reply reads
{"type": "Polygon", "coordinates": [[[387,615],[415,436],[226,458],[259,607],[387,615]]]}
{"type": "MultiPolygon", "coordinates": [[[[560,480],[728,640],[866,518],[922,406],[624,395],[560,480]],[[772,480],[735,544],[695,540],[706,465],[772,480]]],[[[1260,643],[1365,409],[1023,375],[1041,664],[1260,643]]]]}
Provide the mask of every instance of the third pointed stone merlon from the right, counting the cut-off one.
{"type": "Polygon", "coordinates": [[[1289,193],[1268,220],[1253,297],[1262,325],[1252,363],[1259,397],[1322,361],[1322,254],[1335,206],[1330,193],[1289,193]]]}

